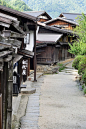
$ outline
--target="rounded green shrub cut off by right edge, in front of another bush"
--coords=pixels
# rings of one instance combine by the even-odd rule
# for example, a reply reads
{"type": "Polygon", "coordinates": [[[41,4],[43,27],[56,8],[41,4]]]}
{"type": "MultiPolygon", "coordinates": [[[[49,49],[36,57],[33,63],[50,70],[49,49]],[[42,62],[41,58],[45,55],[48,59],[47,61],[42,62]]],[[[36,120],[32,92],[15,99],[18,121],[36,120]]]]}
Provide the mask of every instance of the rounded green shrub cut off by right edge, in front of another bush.
{"type": "Polygon", "coordinates": [[[78,73],[84,74],[85,69],[86,69],[86,56],[83,56],[83,58],[79,62],[78,73]]]}

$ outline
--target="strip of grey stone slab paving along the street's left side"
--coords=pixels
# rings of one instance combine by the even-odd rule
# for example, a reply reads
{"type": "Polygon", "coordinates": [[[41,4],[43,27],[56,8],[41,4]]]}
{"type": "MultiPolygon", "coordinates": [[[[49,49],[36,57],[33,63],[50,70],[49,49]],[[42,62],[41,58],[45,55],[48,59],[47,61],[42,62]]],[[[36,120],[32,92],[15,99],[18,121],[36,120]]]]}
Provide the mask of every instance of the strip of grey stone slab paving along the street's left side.
{"type": "Polygon", "coordinates": [[[32,88],[36,88],[36,92],[29,96],[26,113],[20,120],[20,129],[39,129],[39,97],[40,97],[40,86],[43,83],[43,77],[34,82],[32,88]]]}

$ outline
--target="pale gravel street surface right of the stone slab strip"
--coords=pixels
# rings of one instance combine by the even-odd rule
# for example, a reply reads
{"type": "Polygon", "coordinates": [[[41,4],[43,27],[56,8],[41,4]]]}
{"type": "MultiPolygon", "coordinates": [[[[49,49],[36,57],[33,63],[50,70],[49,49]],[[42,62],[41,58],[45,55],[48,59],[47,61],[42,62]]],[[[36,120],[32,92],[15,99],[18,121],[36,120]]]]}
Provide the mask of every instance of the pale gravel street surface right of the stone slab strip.
{"type": "Polygon", "coordinates": [[[40,129],[86,129],[86,97],[79,90],[77,71],[45,75],[40,95],[40,129]]]}

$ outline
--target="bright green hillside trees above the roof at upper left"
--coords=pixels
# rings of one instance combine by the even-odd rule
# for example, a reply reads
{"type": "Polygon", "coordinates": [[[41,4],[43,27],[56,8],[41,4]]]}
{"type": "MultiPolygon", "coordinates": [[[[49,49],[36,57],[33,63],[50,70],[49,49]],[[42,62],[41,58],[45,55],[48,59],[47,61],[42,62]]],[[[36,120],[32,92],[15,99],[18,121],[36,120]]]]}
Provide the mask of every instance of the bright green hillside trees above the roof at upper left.
{"type": "Polygon", "coordinates": [[[0,0],[0,5],[18,10],[18,11],[31,11],[28,5],[21,0],[0,0]]]}

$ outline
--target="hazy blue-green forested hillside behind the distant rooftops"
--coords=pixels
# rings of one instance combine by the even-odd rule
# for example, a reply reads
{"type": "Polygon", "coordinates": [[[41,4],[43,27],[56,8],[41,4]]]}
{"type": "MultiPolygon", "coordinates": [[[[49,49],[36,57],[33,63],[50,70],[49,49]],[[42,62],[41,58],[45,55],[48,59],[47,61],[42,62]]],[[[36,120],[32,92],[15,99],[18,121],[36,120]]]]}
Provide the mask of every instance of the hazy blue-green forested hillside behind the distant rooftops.
{"type": "Polygon", "coordinates": [[[34,11],[45,10],[53,18],[60,13],[86,13],[86,0],[23,0],[34,11]]]}

